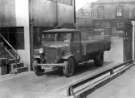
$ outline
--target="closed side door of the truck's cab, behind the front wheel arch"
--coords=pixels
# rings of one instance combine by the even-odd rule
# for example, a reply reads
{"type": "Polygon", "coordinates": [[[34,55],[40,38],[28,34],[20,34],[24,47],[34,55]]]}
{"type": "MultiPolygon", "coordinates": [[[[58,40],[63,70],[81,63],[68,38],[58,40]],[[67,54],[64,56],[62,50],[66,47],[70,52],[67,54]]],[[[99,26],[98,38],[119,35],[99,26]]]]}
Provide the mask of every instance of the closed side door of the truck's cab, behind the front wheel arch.
{"type": "Polygon", "coordinates": [[[72,33],[72,41],[71,41],[71,51],[76,59],[76,61],[80,61],[82,57],[82,49],[81,49],[81,32],[73,32],[72,33]]]}

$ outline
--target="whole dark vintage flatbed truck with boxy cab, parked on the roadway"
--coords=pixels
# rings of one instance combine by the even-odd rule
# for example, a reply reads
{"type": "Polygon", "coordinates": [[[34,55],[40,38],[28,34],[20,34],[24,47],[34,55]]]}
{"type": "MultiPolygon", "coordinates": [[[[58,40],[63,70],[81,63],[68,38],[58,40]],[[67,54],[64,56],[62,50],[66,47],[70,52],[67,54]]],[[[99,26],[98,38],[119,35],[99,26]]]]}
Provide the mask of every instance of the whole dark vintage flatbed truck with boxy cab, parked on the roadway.
{"type": "Polygon", "coordinates": [[[42,46],[33,60],[36,75],[47,69],[61,69],[69,77],[77,66],[89,60],[94,60],[96,66],[102,66],[104,51],[109,51],[111,46],[105,37],[82,40],[82,33],[76,29],[52,29],[43,31],[41,36],[42,46]]]}

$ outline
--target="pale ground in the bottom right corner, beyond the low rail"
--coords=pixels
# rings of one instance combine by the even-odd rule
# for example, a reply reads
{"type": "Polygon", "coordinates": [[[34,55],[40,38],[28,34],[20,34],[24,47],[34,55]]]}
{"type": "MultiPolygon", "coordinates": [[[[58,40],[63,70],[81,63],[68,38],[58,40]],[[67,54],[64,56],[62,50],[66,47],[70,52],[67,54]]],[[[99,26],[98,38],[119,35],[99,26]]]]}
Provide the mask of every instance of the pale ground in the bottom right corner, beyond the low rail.
{"type": "Polygon", "coordinates": [[[135,66],[87,98],[135,98],[135,66]]]}

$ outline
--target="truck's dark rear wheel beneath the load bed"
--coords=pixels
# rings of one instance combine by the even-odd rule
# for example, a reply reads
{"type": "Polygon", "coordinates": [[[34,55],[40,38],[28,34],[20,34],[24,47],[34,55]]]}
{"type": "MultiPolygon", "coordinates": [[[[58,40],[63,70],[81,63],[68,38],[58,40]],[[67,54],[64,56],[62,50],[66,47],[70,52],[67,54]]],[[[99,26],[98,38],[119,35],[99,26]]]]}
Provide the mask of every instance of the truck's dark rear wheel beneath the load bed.
{"type": "Polygon", "coordinates": [[[94,64],[95,66],[103,66],[104,63],[104,52],[100,52],[97,54],[97,56],[94,58],[94,64]]]}

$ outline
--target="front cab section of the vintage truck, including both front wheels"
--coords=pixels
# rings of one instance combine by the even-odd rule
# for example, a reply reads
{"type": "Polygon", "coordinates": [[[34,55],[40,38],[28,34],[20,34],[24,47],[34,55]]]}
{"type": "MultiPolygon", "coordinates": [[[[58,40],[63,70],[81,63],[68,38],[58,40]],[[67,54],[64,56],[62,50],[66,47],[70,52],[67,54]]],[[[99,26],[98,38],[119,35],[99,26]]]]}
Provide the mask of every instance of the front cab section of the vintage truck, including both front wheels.
{"type": "Polygon", "coordinates": [[[75,60],[81,57],[80,31],[65,28],[44,31],[41,34],[41,44],[33,61],[33,69],[37,75],[47,69],[58,68],[61,68],[66,76],[74,73],[75,60]],[[68,63],[71,63],[72,68],[67,68],[68,63]]]}

